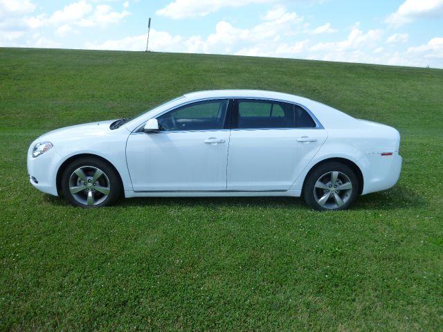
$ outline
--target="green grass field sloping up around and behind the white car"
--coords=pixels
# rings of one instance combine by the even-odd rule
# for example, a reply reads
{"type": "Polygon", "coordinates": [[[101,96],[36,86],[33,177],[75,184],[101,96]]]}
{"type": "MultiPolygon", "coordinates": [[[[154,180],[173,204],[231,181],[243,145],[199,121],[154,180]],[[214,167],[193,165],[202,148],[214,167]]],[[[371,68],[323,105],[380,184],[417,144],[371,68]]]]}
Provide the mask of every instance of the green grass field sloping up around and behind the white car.
{"type": "Polygon", "coordinates": [[[443,71],[217,55],[0,48],[0,331],[442,331],[443,71]],[[82,210],[26,150],[181,93],[266,89],[401,133],[396,187],[301,199],[127,199],[82,210]]]}

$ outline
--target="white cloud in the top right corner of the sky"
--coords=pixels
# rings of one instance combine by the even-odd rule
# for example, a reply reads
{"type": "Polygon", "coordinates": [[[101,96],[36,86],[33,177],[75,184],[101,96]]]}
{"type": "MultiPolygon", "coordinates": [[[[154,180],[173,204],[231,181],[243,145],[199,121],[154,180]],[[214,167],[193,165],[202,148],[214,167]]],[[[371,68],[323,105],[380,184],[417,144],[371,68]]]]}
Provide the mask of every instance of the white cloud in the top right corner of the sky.
{"type": "Polygon", "coordinates": [[[386,18],[386,23],[401,26],[416,19],[443,16],[443,0],[406,0],[386,18]]]}

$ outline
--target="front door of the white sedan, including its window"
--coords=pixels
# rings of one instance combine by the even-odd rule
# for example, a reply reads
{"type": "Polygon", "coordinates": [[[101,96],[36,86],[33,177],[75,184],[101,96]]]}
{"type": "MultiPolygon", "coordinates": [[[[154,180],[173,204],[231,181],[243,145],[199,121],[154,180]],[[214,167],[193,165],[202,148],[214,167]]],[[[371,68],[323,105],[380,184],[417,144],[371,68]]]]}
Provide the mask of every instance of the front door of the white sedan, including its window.
{"type": "Polygon", "coordinates": [[[134,132],[127,165],[136,192],[226,190],[228,100],[206,100],[157,117],[157,133],[134,132]]]}

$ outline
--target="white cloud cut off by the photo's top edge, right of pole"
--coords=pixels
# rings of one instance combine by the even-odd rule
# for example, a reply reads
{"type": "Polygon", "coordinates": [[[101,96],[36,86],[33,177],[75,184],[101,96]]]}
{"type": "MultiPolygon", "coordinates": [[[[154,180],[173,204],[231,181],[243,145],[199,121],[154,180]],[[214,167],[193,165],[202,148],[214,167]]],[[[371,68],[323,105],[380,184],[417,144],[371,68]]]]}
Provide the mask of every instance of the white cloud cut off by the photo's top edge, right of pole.
{"type": "MultiPolygon", "coordinates": [[[[298,3],[316,3],[323,0],[296,0],[298,3]]],[[[284,3],[285,0],[174,0],[164,8],[156,11],[156,15],[170,17],[172,19],[184,19],[186,17],[202,17],[217,12],[224,7],[242,7],[259,3],[284,3]]],[[[281,9],[276,9],[277,11],[281,9]]],[[[273,15],[269,12],[269,15],[273,15]]],[[[278,13],[277,13],[278,15],[278,13]]],[[[273,20],[273,17],[265,19],[273,20]]]]}

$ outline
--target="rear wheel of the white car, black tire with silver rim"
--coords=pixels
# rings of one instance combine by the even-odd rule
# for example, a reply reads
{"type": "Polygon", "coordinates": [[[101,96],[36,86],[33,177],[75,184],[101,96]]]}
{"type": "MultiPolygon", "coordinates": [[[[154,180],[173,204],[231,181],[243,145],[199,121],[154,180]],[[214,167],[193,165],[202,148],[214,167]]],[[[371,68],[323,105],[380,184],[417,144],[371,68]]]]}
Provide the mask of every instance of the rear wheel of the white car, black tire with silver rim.
{"type": "Polygon", "coordinates": [[[346,210],[359,194],[359,181],[347,165],[329,162],[310,172],[302,194],[314,210],[346,210]]]}

